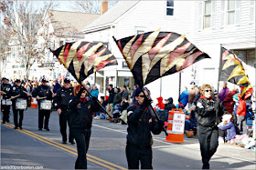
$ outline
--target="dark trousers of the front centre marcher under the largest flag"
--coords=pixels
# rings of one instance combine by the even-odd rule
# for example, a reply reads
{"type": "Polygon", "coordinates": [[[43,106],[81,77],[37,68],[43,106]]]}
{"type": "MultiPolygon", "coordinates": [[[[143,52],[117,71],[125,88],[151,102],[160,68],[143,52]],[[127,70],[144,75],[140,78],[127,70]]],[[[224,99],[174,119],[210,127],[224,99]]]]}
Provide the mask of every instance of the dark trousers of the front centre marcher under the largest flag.
{"type": "Polygon", "coordinates": [[[153,169],[151,145],[141,147],[127,143],[125,153],[128,169],[139,169],[139,162],[141,162],[141,169],[153,169]]]}

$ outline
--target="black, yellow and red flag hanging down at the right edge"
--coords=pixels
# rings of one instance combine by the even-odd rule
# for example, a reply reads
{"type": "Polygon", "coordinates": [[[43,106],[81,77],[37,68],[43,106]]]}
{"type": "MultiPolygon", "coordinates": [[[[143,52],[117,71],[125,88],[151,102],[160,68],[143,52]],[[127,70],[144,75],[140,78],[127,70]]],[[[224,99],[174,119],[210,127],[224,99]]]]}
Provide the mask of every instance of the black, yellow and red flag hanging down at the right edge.
{"type": "Polygon", "coordinates": [[[248,76],[245,75],[240,58],[224,47],[221,47],[220,57],[219,81],[240,85],[241,98],[247,99],[250,97],[253,94],[253,89],[248,76]]]}

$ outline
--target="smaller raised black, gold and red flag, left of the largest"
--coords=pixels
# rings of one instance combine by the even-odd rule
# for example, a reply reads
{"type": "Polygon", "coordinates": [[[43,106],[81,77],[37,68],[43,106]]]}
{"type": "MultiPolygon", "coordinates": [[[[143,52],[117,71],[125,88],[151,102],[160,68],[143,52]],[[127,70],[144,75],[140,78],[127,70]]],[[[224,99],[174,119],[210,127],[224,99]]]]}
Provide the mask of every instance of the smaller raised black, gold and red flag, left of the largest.
{"type": "Polygon", "coordinates": [[[67,43],[52,53],[78,82],[82,82],[105,66],[117,65],[116,58],[102,43],[85,41],[67,43]]]}

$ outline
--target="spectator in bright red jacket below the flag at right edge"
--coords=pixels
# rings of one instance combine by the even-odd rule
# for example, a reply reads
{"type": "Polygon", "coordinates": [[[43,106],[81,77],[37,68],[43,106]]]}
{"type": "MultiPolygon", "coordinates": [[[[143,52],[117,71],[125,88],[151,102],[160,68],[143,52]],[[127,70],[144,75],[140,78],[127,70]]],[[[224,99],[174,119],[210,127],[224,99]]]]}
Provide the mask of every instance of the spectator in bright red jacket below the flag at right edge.
{"type": "Polygon", "coordinates": [[[247,134],[247,125],[246,125],[246,103],[244,100],[241,99],[240,95],[240,104],[237,110],[237,118],[238,118],[238,125],[240,131],[242,130],[243,134],[247,134]]]}

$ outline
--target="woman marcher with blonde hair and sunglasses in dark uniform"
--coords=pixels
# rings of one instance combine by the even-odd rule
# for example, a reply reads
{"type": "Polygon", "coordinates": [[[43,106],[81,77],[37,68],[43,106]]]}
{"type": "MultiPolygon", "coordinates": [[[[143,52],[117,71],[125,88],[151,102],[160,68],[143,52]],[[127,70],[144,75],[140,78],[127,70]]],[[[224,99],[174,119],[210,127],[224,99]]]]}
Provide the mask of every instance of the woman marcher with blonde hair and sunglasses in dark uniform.
{"type": "Polygon", "coordinates": [[[213,90],[210,85],[201,87],[201,96],[197,100],[196,119],[197,135],[203,162],[203,169],[209,169],[209,160],[217,151],[218,143],[218,119],[216,109],[219,108],[218,117],[223,115],[222,109],[215,99],[212,98],[213,90]]]}

